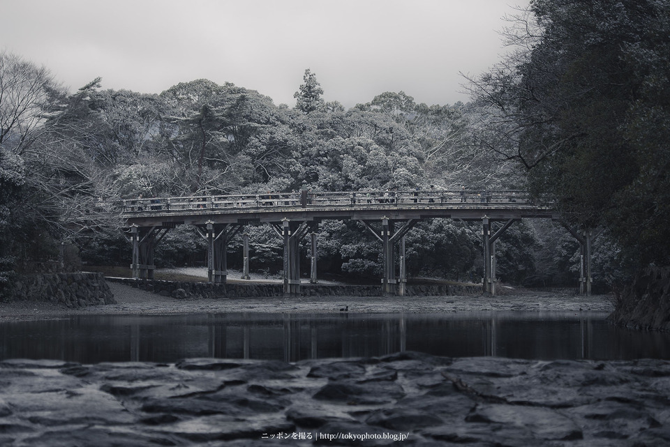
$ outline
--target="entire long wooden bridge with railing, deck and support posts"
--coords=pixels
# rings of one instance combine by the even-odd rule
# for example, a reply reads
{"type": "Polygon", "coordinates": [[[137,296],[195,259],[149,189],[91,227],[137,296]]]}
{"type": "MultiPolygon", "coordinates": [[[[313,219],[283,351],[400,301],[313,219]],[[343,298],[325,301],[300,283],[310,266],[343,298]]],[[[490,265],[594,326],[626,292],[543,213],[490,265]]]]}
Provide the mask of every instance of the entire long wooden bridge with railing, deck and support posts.
{"type": "MultiPolygon", "coordinates": [[[[192,225],[207,240],[209,281],[226,281],[226,248],[242,233],[243,279],[249,278],[249,236],[246,225],[269,224],[283,239],[284,293],[300,293],[299,244],[311,238],[311,277],[317,282],[316,231],[321,220],[357,220],[382,245],[382,289],[405,294],[405,234],[417,222],[450,218],[480,222],[484,247],[483,290],[496,292],[496,241],[522,218],[551,218],[560,214],[551,205],[535,204],[519,191],[359,191],[267,192],[260,195],[224,195],[131,199],[123,216],[133,244],[133,277],[154,278],[154,247],[178,225],[192,225]]],[[[580,291],[590,293],[590,241],[586,231],[564,225],[581,245],[580,291]]]]}

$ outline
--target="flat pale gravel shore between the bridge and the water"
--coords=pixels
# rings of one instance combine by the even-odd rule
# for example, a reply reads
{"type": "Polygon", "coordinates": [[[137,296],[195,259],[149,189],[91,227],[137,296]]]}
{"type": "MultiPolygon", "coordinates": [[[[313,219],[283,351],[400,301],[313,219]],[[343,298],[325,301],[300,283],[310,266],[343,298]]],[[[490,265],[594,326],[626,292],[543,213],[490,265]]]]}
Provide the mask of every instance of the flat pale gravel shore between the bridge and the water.
{"type": "Polygon", "coordinates": [[[67,315],[159,315],[185,313],[290,312],[474,312],[488,310],[610,312],[606,296],[578,296],[519,291],[500,296],[301,296],[297,298],[221,298],[177,300],[109,282],[117,304],[64,308],[38,301],[0,303],[0,321],[66,317],[67,315]]]}

